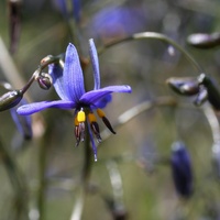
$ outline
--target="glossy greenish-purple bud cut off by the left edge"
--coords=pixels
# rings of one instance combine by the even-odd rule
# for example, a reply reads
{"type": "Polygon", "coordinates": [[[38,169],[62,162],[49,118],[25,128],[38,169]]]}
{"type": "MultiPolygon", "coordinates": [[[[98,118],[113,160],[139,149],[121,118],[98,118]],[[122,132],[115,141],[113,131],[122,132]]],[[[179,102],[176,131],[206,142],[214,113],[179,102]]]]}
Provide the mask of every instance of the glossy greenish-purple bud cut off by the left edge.
{"type": "Polygon", "coordinates": [[[4,111],[15,107],[22,99],[23,92],[21,90],[12,90],[0,97],[0,111],[4,111]]]}

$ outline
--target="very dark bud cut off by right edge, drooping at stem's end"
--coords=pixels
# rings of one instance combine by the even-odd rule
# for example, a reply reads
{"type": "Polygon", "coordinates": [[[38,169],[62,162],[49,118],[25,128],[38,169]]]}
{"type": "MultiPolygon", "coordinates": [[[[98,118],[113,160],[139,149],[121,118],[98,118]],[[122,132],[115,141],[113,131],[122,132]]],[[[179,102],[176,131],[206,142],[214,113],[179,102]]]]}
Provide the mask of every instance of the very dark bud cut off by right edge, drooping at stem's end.
{"type": "Polygon", "coordinates": [[[217,81],[213,80],[213,78],[207,76],[206,74],[201,74],[198,77],[198,80],[207,89],[208,101],[216,110],[220,110],[220,90],[217,81]]]}

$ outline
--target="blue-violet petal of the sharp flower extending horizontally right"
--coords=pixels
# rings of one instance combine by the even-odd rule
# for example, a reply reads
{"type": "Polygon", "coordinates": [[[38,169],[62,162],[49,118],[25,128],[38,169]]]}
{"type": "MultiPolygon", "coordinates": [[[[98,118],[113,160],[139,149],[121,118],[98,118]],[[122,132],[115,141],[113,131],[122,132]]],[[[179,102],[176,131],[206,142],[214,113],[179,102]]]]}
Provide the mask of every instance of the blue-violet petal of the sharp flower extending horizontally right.
{"type": "Polygon", "coordinates": [[[130,86],[108,86],[102,89],[98,90],[91,90],[82,95],[80,98],[80,102],[85,105],[94,105],[96,106],[96,102],[99,101],[101,98],[103,98],[106,95],[109,95],[111,92],[131,92],[130,86]]]}

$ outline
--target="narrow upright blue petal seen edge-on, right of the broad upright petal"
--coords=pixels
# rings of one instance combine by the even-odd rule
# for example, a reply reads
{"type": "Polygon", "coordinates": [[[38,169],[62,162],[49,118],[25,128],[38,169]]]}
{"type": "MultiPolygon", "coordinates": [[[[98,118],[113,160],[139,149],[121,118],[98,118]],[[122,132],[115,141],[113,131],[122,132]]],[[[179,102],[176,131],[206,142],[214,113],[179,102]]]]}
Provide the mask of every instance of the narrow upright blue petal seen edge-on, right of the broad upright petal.
{"type": "Polygon", "coordinates": [[[91,65],[94,70],[94,89],[100,89],[100,73],[99,73],[99,58],[94,40],[89,40],[89,54],[91,58],[91,65]]]}

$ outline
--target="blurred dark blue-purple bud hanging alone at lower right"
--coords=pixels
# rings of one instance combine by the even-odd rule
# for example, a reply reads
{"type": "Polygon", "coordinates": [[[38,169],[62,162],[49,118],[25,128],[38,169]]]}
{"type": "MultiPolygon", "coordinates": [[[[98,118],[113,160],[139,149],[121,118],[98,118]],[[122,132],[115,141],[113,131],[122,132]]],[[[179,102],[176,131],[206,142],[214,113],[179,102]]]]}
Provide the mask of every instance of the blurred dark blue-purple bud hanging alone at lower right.
{"type": "Polygon", "coordinates": [[[193,170],[189,153],[183,142],[172,145],[170,165],[177,193],[188,198],[193,195],[193,170]]]}

